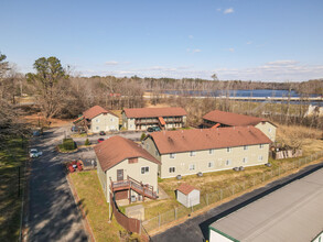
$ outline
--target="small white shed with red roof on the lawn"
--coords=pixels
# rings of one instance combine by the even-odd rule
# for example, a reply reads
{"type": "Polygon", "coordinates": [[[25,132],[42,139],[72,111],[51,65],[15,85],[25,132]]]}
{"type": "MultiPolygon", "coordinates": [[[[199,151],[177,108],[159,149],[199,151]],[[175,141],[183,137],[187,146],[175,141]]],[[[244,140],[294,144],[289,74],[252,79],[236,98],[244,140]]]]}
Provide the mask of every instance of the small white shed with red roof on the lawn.
{"type": "Polygon", "coordinates": [[[176,198],[186,208],[200,205],[200,190],[189,184],[181,184],[176,190],[176,198]]]}

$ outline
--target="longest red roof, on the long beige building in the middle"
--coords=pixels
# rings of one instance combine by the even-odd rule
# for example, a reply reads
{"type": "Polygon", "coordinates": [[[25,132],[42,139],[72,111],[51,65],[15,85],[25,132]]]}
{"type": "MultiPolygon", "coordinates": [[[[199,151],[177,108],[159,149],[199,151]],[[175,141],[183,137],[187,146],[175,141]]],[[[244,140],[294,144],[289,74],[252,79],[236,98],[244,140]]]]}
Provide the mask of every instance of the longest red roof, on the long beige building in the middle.
{"type": "Polygon", "coordinates": [[[271,143],[255,127],[161,131],[148,138],[154,141],[161,154],[271,143]]]}

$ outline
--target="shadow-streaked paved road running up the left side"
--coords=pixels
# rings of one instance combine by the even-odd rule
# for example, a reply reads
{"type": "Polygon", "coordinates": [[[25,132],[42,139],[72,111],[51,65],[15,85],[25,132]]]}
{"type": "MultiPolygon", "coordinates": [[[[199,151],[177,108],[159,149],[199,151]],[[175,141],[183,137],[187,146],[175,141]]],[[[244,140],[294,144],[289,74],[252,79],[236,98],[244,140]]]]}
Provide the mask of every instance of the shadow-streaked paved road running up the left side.
{"type": "Polygon", "coordinates": [[[88,241],[63,172],[64,156],[54,150],[63,136],[64,128],[52,129],[33,141],[43,156],[32,161],[28,241],[88,241]]]}

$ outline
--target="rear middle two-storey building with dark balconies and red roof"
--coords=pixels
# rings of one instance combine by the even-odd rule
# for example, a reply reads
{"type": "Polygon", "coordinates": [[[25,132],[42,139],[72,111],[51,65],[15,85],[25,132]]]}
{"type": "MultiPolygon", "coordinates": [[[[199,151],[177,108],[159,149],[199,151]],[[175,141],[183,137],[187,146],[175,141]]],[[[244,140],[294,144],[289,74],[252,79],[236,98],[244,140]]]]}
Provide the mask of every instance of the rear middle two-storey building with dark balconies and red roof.
{"type": "Polygon", "coordinates": [[[127,130],[182,128],[186,124],[186,111],[182,108],[123,109],[122,127],[127,130]]]}

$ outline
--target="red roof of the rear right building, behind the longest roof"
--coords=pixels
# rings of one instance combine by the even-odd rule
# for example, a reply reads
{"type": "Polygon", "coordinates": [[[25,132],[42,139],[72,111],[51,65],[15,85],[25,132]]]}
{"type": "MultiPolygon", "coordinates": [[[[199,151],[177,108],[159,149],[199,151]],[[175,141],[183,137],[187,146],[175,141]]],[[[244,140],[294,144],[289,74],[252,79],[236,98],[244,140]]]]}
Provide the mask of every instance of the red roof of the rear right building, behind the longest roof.
{"type": "Polygon", "coordinates": [[[257,125],[258,123],[265,121],[269,122],[266,119],[251,117],[251,116],[244,116],[234,112],[224,112],[219,110],[213,110],[206,113],[203,119],[222,123],[229,127],[246,127],[246,125],[257,125]]]}

